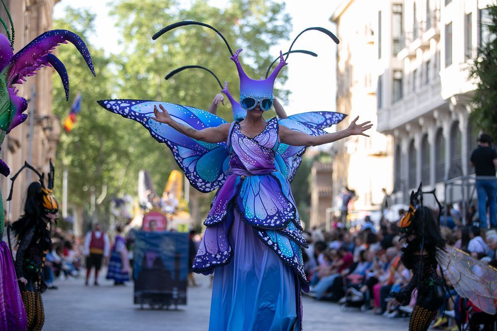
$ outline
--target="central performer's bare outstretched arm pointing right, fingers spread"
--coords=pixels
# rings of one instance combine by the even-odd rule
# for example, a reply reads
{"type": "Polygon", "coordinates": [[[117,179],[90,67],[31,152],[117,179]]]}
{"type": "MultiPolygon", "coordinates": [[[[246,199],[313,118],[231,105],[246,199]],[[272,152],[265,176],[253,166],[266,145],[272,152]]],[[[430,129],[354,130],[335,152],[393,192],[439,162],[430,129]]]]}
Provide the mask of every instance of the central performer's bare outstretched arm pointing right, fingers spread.
{"type": "Polygon", "coordinates": [[[326,133],[319,136],[313,136],[310,134],[291,130],[284,126],[280,126],[279,136],[281,142],[292,146],[318,146],[336,140],[340,140],[351,135],[364,135],[366,137],[369,137],[369,135],[367,135],[364,132],[366,130],[371,129],[373,125],[370,124],[369,121],[357,124],[358,119],[359,116],[357,116],[355,120],[353,120],[352,123],[350,123],[350,126],[345,130],[333,133],[326,133]]]}

